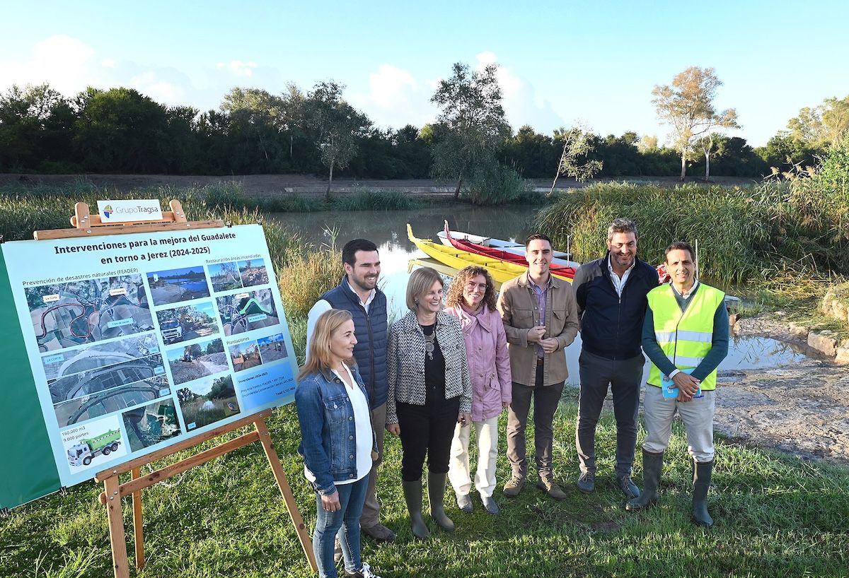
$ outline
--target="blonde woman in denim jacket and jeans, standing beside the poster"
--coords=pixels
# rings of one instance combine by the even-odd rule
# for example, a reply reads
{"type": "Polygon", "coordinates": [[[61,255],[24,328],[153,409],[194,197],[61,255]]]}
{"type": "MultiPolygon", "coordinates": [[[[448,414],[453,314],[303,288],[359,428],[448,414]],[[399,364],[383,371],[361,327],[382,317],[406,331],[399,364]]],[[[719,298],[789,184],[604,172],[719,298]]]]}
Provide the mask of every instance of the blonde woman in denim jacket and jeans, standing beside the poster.
{"type": "Polygon", "coordinates": [[[319,578],[338,575],[333,550],[340,528],[345,575],[378,578],[360,559],[359,520],[377,445],[368,395],[352,364],[356,344],[350,313],[339,309],[323,313],[295,389],[301,424],[298,453],[304,458],[304,475],[316,491],[312,549],[319,578]]]}

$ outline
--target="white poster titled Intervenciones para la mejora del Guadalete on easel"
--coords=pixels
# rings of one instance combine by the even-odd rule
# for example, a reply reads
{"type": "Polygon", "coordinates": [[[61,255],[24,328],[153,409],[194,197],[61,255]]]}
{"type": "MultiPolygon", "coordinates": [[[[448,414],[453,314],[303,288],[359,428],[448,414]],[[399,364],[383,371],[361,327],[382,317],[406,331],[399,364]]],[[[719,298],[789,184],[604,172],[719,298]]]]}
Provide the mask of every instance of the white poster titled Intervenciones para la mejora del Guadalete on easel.
{"type": "Polygon", "coordinates": [[[2,247],[63,486],[292,400],[260,225],[2,247]]]}

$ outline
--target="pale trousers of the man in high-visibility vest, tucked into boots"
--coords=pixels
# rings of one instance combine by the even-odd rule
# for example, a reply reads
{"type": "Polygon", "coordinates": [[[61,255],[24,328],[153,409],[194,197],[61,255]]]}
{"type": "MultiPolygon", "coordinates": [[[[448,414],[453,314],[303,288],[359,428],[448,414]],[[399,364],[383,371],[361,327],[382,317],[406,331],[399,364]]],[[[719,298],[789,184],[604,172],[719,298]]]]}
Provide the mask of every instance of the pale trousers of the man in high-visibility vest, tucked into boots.
{"type": "Polygon", "coordinates": [[[648,434],[643,449],[651,453],[661,453],[666,449],[672,436],[672,418],[678,411],[687,426],[687,451],[697,462],[710,462],[713,459],[713,411],[717,392],[702,393],[705,397],[678,403],[674,398],[663,397],[660,387],[647,384],[643,412],[648,434]]]}

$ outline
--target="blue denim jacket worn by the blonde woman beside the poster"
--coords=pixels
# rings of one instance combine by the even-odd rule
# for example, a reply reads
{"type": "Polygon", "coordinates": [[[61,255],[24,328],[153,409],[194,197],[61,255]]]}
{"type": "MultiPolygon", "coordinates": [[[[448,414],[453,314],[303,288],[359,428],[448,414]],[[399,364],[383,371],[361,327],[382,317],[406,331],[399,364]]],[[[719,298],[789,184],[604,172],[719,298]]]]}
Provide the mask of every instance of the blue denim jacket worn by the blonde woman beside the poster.
{"type": "MultiPolygon", "coordinates": [[[[352,367],[351,373],[368,401],[357,368],[352,367]]],[[[316,477],[316,491],[332,494],[335,480],[353,480],[357,475],[357,426],[346,385],[329,369],[307,375],[295,388],[295,406],[301,424],[298,453],[316,477]]],[[[372,431],[373,458],[376,452],[372,431]]]]}

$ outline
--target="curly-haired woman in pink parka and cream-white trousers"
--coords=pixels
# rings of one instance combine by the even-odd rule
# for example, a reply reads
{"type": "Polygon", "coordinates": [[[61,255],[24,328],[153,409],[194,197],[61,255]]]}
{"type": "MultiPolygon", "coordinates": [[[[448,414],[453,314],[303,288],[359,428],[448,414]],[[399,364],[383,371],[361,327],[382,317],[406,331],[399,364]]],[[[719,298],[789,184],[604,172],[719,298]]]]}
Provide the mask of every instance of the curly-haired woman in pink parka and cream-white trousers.
{"type": "MultiPolygon", "coordinates": [[[[498,458],[498,415],[510,403],[512,383],[507,336],[501,315],[495,308],[495,286],[483,267],[469,266],[459,270],[451,282],[445,299],[447,314],[460,320],[469,360],[472,382],[472,423],[478,446],[475,488],[489,514],[498,514],[492,498],[495,489],[495,464],[498,458]]],[[[457,494],[457,505],[472,511],[469,497],[469,435],[471,425],[458,424],[451,443],[448,479],[457,494]]]]}

